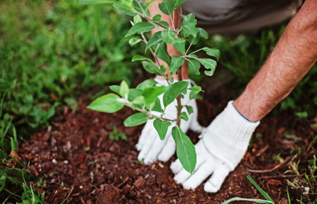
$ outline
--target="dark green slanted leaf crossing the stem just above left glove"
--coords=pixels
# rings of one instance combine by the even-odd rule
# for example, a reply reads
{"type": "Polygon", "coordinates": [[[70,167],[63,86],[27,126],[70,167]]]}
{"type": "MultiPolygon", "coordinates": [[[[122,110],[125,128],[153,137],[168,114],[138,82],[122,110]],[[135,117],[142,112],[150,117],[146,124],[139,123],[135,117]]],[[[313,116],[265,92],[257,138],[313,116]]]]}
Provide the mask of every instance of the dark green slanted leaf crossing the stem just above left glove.
{"type": "Polygon", "coordinates": [[[173,102],[179,94],[182,94],[188,87],[187,81],[175,82],[168,86],[168,90],[163,95],[163,104],[168,106],[173,102]]]}

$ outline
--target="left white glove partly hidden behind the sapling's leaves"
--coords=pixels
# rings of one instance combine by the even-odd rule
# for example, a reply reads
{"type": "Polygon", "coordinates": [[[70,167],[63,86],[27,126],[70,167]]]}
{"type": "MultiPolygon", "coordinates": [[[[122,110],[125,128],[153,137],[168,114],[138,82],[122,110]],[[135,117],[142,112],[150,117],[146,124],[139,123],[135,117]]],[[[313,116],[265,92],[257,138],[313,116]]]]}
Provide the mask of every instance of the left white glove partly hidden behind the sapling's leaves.
{"type": "MultiPolygon", "coordinates": [[[[165,79],[163,80],[163,79],[155,78],[154,80],[161,85],[168,86],[165,79]]],[[[189,79],[184,81],[190,82],[189,79]]],[[[174,80],[174,82],[177,82],[177,80],[174,80]]],[[[191,87],[191,83],[189,83],[188,88],[190,87],[191,87]]],[[[188,115],[188,121],[182,120],[180,127],[184,133],[186,133],[188,129],[191,129],[195,132],[202,132],[203,129],[205,128],[201,127],[199,123],[197,122],[198,112],[197,112],[196,101],[194,99],[189,100],[189,92],[190,90],[187,90],[187,94],[185,94],[184,98],[181,99],[181,103],[183,105],[192,106],[194,112],[191,115],[189,115],[186,108],[182,109],[182,112],[186,112],[186,114],[188,115]]],[[[162,108],[164,108],[163,94],[159,95],[159,99],[160,99],[162,108]]],[[[176,119],[177,118],[176,107],[177,107],[177,101],[175,100],[174,102],[172,102],[166,107],[164,117],[168,119],[176,119]]],[[[161,113],[152,111],[152,115],[160,116],[161,113]]],[[[139,138],[138,144],[136,144],[135,146],[137,150],[140,151],[138,155],[138,160],[143,161],[145,164],[150,164],[157,160],[164,161],[164,162],[168,161],[171,158],[171,156],[175,153],[175,149],[176,149],[175,141],[171,135],[171,129],[173,125],[169,126],[165,139],[162,141],[160,140],[159,135],[153,126],[153,121],[154,120],[149,120],[146,122],[141,132],[141,136],[139,138]]]]}

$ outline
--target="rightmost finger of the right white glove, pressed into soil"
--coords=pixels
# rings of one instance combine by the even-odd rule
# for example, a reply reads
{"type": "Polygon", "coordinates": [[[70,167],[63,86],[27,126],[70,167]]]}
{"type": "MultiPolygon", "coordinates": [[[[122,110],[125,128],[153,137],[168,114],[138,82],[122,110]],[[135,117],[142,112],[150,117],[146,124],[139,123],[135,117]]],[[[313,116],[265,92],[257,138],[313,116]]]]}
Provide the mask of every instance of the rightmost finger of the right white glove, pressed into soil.
{"type": "Polygon", "coordinates": [[[204,190],[209,193],[216,193],[229,172],[230,168],[227,164],[222,163],[217,166],[210,179],[205,183],[204,190]]]}

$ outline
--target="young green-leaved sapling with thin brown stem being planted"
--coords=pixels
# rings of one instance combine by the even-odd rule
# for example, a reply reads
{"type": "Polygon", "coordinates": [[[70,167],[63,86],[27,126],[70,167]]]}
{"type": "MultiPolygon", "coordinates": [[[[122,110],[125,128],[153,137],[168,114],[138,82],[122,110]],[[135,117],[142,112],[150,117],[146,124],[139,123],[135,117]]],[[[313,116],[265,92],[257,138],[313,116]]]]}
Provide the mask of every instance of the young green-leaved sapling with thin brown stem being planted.
{"type": "Polygon", "coordinates": [[[193,108],[186,104],[181,104],[181,98],[189,91],[190,100],[200,97],[199,92],[202,91],[200,86],[192,86],[188,88],[189,82],[182,81],[180,67],[188,62],[188,68],[200,74],[201,64],[206,70],[207,76],[212,76],[217,62],[220,57],[218,49],[204,47],[194,52],[189,52],[192,45],[198,43],[202,37],[208,38],[208,33],[197,27],[197,20],[194,14],[182,15],[181,5],[185,0],[163,0],[159,4],[162,13],[170,16],[172,25],[161,20],[161,15],[151,16],[148,10],[149,5],[154,2],[141,3],[139,0],[79,0],[82,4],[88,3],[112,3],[113,6],[129,16],[133,16],[131,21],[132,27],[125,37],[133,36],[129,40],[129,44],[134,46],[137,43],[145,43],[145,51],[149,50],[153,56],[153,60],[145,56],[136,55],[132,61],[141,61],[144,69],[152,74],[163,76],[168,86],[162,86],[158,82],[148,79],[140,83],[135,89],[129,89],[127,83],[122,81],[120,86],[110,86],[110,89],[117,94],[110,93],[103,95],[94,100],[88,109],[95,111],[114,113],[124,106],[128,106],[138,111],[129,116],[124,125],[127,127],[141,125],[148,120],[154,120],[153,125],[157,130],[161,140],[165,139],[165,135],[169,126],[173,126],[171,134],[177,144],[177,156],[184,169],[192,173],[196,166],[196,151],[189,137],[180,128],[181,120],[188,120],[186,112],[182,112],[183,108],[187,109],[188,114],[192,114],[193,108]],[[178,15],[178,28],[174,26],[175,15],[178,15]],[[146,21],[143,21],[145,19],[146,21]],[[156,32],[150,39],[146,39],[144,33],[154,28],[161,28],[162,31],[156,32]],[[140,35],[141,38],[136,35],[140,35]],[[169,56],[166,51],[166,44],[171,44],[178,50],[179,55],[169,56]],[[211,56],[210,58],[199,58],[195,53],[205,51],[211,56]],[[164,65],[159,63],[161,59],[169,66],[167,70],[164,65]],[[173,82],[171,75],[177,74],[178,81],[173,82]],[[163,101],[160,101],[159,95],[163,95],[163,101]],[[177,100],[177,117],[170,119],[165,116],[165,110],[168,105],[177,100]],[[163,104],[163,107],[161,106],[163,104]],[[159,114],[153,114],[159,113],[159,114]]]}

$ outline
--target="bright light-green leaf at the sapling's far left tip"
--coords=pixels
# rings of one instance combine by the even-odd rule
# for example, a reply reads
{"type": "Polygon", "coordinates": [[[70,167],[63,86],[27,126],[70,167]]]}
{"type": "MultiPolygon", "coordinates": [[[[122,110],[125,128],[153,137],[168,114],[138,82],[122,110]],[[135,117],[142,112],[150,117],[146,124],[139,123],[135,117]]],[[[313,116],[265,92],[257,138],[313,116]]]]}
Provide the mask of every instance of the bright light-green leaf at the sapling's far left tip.
{"type": "Polygon", "coordinates": [[[118,102],[120,97],[116,94],[107,94],[98,97],[89,106],[87,109],[105,112],[105,113],[114,113],[124,107],[124,103],[118,102]]]}

